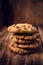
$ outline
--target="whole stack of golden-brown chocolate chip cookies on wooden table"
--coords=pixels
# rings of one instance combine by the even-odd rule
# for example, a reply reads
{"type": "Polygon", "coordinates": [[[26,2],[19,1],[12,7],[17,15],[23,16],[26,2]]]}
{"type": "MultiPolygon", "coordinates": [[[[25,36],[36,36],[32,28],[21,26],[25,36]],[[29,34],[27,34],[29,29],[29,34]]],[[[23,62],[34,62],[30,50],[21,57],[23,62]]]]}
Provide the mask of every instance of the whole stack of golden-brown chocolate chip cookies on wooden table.
{"type": "Polygon", "coordinates": [[[31,24],[13,24],[8,31],[9,49],[16,54],[28,54],[41,45],[38,29],[31,24]]]}

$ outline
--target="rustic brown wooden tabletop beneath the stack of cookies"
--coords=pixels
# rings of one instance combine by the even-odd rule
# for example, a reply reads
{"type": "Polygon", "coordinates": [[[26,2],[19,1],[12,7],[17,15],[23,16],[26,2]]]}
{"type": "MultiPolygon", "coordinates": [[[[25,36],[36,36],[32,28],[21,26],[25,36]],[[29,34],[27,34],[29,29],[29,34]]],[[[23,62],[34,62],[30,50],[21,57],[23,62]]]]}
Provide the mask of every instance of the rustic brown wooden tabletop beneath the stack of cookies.
{"type": "Polygon", "coordinates": [[[13,54],[8,49],[9,36],[7,28],[0,31],[0,65],[43,65],[42,46],[37,52],[29,55],[13,54]]]}

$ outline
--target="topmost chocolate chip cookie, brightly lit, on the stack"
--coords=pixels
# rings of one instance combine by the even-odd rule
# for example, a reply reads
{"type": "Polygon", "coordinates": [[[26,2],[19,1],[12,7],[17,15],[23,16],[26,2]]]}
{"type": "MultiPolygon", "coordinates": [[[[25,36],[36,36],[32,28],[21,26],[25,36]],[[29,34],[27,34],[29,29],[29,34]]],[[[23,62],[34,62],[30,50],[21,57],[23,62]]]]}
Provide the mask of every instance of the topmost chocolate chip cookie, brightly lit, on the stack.
{"type": "Polygon", "coordinates": [[[13,24],[8,27],[8,31],[14,34],[31,34],[36,33],[37,29],[33,27],[31,24],[13,24]]]}

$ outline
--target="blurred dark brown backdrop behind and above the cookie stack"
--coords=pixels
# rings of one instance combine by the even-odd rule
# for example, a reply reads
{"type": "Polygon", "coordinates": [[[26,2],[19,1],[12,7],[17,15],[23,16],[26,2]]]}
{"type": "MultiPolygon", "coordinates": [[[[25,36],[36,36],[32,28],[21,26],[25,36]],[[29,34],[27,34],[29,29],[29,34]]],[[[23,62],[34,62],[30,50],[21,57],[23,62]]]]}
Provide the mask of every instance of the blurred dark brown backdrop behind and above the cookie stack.
{"type": "Polygon", "coordinates": [[[0,26],[24,22],[43,25],[43,0],[0,0],[0,26]]]}

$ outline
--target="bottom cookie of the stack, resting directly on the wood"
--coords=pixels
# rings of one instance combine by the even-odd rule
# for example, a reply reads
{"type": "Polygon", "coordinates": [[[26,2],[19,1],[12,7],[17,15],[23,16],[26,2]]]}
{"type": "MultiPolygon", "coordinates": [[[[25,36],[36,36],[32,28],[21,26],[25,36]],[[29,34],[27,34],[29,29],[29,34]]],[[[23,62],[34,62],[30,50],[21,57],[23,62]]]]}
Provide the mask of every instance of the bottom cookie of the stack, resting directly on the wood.
{"type": "Polygon", "coordinates": [[[14,54],[20,54],[20,55],[29,54],[29,53],[33,52],[33,50],[24,50],[24,49],[20,49],[17,47],[10,47],[10,50],[14,54]]]}

